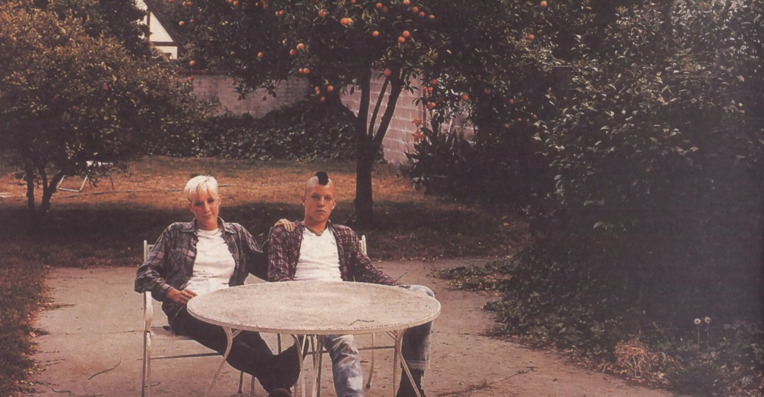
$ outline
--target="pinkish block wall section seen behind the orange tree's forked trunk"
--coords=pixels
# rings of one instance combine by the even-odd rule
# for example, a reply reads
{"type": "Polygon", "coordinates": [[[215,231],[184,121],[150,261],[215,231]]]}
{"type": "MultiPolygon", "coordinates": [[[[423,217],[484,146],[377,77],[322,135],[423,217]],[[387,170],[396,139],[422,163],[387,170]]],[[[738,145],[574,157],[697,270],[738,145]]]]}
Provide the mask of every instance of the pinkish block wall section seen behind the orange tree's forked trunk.
{"type": "MultiPolygon", "coordinates": [[[[374,70],[372,76],[379,76],[380,72],[374,70]]],[[[371,119],[371,113],[374,111],[374,106],[377,104],[377,98],[379,98],[382,84],[384,83],[384,76],[378,79],[372,77],[371,80],[371,106],[369,109],[369,118],[371,119]]],[[[413,86],[420,86],[419,81],[413,82],[413,86]]],[[[390,89],[387,90],[390,92],[390,89]]],[[[384,158],[391,163],[406,163],[406,152],[413,151],[413,132],[416,131],[416,126],[411,122],[415,118],[424,119],[425,111],[422,105],[414,105],[414,99],[418,98],[419,91],[414,90],[413,93],[403,91],[400,93],[398,103],[393,114],[393,120],[390,121],[390,127],[387,129],[384,140],[382,141],[382,147],[384,150],[384,158]]],[[[380,112],[377,116],[377,126],[379,125],[380,118],[384,114],[387,105],[387,94],[384,95],[382,105],[380,106],[380,112]]],[[[361,92],[356,91],[353,95],[349,92],[342,95],[342,103],[344,103],[351,111],[358,114],[358,107],[361,105],[361,92]]]]}

